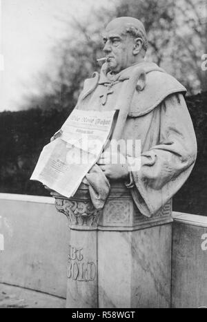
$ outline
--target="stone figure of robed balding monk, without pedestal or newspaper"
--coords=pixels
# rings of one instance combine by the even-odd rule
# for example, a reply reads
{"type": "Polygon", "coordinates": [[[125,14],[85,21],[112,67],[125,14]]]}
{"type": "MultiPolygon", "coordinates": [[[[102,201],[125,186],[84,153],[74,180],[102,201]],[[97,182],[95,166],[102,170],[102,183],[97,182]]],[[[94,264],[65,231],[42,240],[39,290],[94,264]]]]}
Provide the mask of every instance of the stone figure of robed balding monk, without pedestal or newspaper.
{"type": "Polygon", "coordinates": [[[140,140],[141,169],[130,169],[132,155],[127,155],[125,163],[108,164],[105,153],[97,164],[109,180],[123,180],[141,214],[150,217],[179,190],[195,163],[197,144],[184,100],[186,88],[156,64],[145,61],[148,39],[138,19],[112,20],[103,42],[106,62],[100,75],[86,79],[76,108],[114,109],[121,95],[124,100],[133,70],[144,70],[126,122],[117,124],[122,129],[121,139],[140,140]]]}

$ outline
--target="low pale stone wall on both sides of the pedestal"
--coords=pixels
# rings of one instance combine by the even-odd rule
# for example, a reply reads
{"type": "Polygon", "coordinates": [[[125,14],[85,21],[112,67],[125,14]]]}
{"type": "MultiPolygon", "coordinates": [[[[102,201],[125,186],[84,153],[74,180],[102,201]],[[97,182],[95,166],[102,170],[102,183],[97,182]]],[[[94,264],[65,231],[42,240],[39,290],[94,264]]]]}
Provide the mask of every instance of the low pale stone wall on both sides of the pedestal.
{"type": "MultiPolygon", "coordinates": [[[[54,200],[0,193],[0,205],[0,283],[66,297],[70,231],[54,200]]],[[[171,306],[207,306],[207,218],[173,217],[171,306]]]]}

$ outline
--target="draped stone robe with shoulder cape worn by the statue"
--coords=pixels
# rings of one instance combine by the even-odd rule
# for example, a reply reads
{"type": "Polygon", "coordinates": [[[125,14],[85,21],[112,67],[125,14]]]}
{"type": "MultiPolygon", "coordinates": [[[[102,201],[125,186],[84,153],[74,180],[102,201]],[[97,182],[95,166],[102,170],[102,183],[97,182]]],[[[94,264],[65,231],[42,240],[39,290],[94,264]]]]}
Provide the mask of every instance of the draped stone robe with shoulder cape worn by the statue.
{"type": "MultiPolygon", "coordinates": [[[[100,75],[95,73],[86,79],[76,108],[119,108],[118,97],[124,95],[137,66],[144,68],[146,80],[141,83],[141,91],[135,90],[121,138],[141,140],[141,168],[130,171],[131,180],[126,187],[141,214],[150,217],[180,189],[195,164],[197,143],[184,100],[186,88],[154,63],[136,64],[117,75],[103,64],[100,75]],[[111,82],[112,93],[104,97],[111,82]]],[[[136,158],[133,153],[128,156],[136,158]]]]}

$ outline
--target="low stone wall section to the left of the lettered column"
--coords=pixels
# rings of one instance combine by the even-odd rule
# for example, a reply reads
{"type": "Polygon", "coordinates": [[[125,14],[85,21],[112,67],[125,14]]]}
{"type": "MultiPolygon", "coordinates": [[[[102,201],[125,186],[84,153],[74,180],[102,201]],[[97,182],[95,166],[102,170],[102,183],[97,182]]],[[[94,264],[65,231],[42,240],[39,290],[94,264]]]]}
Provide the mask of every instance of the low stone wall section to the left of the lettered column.
{"type": "Polygon", "coordinates": [[[53,198],[0,193],[0,283],[66,297],[68,234],[53,198]]]}

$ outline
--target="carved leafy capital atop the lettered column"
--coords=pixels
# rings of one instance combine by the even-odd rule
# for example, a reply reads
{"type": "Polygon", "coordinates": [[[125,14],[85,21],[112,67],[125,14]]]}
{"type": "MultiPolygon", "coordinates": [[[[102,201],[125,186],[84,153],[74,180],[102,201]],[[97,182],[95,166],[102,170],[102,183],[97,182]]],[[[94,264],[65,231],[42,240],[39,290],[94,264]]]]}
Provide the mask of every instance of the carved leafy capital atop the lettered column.
{"type": "Polygon", "coordinates": [[[96,229],[99,211],[90,201],[55,198],[55,207],[66,215],[70,227],[77,229],[96,229]],[[79,228],[78,228],[79,227],[79,228]]]}

